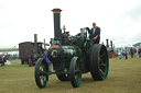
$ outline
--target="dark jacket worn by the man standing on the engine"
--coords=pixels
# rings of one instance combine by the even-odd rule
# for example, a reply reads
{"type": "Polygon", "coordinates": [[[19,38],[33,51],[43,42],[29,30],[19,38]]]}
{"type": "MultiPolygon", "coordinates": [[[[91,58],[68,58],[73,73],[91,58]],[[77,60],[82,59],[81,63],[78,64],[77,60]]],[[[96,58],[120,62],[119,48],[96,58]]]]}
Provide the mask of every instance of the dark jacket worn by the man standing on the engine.
{"type": "Polygon", "coordinates": [[[94,28],[91,28],[91,34],[93,34],[93,37],[97,36],[97,39],[95,39],[95,44],[99,44],[100,42],[100,27],[96,26],[96,30],[95,30],[95,33],[94,33],[94,28]]]}

